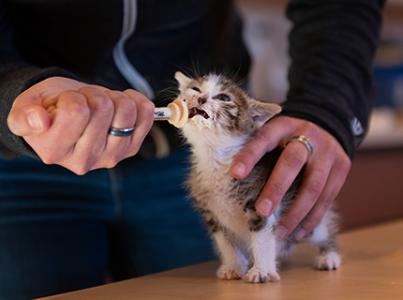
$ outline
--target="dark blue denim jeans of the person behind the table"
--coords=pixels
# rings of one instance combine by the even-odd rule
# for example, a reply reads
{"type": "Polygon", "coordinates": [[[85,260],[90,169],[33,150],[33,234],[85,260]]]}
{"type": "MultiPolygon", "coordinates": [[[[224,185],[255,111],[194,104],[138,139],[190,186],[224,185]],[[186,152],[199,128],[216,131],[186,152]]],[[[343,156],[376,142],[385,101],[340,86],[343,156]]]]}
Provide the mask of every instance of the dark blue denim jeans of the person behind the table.
{"type": "Polygon", "coordinates": [[[76,176],[0,160],[0,299],[61,293],[214,257],[186,197],[187,151],[76,176]]]}

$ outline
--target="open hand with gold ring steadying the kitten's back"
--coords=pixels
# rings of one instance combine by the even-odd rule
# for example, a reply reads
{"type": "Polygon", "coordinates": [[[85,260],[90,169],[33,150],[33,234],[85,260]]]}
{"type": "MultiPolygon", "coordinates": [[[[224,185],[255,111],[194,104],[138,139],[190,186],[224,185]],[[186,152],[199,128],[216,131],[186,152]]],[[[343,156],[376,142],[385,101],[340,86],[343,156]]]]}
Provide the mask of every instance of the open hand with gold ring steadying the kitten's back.
{"type": "Polygon", "coordinates": [[[349,157],[330,133],[311,122],[279,116],[260,128],[236,155],[231,168],[232,176],[245,178],[266,152],[296,135],[309,138],[313,145],[311,157],[302,143],[290,142],[256,201],[259,215],[271,215],[306,165],[295,201],[276,226],[276,235],[280,239],[286,238],[299,224],[301,228],[296,232],[297,240],[316,227],[339,193],[351,167],[349,157]]]}

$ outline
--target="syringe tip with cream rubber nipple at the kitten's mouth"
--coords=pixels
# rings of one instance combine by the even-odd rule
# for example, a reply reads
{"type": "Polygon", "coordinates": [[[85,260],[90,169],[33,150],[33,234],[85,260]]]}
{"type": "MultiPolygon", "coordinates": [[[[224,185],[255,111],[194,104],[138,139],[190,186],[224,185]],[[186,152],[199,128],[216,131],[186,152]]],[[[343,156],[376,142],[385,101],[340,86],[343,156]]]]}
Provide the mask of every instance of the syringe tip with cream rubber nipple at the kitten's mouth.
{"type": "Polygon", "coordinates": [[[155,121],[168,121],[178,128],[183,127],[188,118],[188,107],[186,103],[179,98],[169,103],[167,107],[156,107],[154,110],[155,121]]]}

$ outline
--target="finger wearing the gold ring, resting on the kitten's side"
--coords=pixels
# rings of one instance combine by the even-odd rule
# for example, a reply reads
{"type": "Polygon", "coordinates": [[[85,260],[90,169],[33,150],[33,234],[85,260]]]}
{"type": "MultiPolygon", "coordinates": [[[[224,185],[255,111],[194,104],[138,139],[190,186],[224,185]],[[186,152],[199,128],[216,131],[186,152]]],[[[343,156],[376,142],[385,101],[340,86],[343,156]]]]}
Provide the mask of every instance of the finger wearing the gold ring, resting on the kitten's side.
{"type": "Polygon", "coordinates": [[[269,216],[283,199],[308,159],[308,151],[301,143],[290,143],[281,153],[273,172],[256,201],[256,211],[269,216]]]}

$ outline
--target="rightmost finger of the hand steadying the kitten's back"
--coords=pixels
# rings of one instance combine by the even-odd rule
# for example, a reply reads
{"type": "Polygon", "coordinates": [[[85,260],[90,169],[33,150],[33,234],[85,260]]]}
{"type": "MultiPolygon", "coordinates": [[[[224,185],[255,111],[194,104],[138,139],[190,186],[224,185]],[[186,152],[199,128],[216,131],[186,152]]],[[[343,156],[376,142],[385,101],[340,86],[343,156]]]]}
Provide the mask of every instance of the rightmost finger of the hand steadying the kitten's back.
{"type": "Polygon", "coordinates": [[[312,210],[302,222],[301,229],[296,233],[295,239],[301,240],[307,234],[311,233],[314,228],[320,223],[329,207],[336,199],[344,182],[346,181],[349,171],[349,166],[340,168],[340,164],[333,166],[327,179],[326,186],[322,191],[318,201],[315,203],[312,210]]]}

